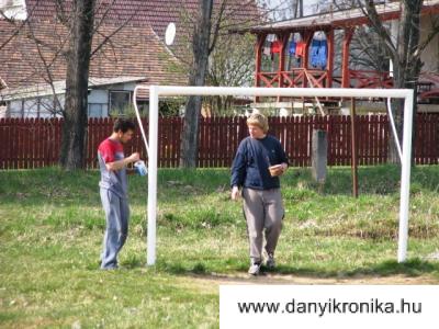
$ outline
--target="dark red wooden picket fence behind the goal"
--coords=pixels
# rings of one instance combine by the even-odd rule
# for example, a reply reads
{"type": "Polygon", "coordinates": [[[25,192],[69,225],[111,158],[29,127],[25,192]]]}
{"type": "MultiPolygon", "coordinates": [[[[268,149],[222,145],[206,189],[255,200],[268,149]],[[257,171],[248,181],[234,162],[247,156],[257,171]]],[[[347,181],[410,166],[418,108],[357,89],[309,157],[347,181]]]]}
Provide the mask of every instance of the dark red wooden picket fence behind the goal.
{"type": "MultiPolygon", "coordinates": [[[[390,138],[386,115],[359,115],[357,120],[359,164],[384,163],[390,138]]],[[[351,161],[349,116],[270,117],[270,134],[285,148],[291,164],[311,166],[311,137],[314,128],[328,133],[328,164],[347,166],[351,161]]],[[[40,168],[56,164],[59,156],[63,120],[1,118],[0,169],[40,168]]],[[[87,167],[97,168],[97,149],[112,132],[112,118],[90,118],[87,134],[87,167]]],[[[147,121],[144,122],[146,134],[147,121]]],[[[180,156],[180,117],[159,120],[159,167],[178,167],[180,156]]],[[[418,114],[416,121],[415,162],[438,163],[439,115],[418,114]]],[[[243,117],[207,117],[200,122],[199,167],[229,167],[239,141],[247,136],[243,117]]],[[[145,150],[139,134],[125,146],[125,154],[145,150]]]]}

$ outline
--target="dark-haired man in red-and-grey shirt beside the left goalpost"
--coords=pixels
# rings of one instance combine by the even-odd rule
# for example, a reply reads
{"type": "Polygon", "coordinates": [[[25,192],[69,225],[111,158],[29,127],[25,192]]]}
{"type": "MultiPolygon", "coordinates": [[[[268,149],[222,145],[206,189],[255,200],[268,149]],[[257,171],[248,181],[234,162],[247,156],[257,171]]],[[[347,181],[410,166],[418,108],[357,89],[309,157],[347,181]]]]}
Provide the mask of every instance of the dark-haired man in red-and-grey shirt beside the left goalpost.
{"type": "Polygon", "coordinates": [[[98,148],[101,181],[99,182],[106,228],[103,238],[101,269],[117,269],[117,253],[126,241],[128,234],[130,206],[126,174],[134,172],[126,167],[139,160],[138,152],[124,156],[123,145],[134,135],[135,125],[126,118],[117,118],[113,133],[98,148]]]}

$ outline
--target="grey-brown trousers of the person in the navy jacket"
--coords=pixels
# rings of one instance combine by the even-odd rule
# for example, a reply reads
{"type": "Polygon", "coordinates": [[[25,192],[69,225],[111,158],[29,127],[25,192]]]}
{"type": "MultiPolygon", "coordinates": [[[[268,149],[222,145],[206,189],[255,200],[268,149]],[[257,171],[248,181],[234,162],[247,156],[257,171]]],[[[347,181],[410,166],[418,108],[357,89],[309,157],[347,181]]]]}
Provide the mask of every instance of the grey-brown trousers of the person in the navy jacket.
{"type": "Polygon", "coordinates": [[[267,253],[274,253],[282,229],[284,209],[280,189],[243,189],[244,215],[250,242],[250,260],[262,261],[263,231],[267,253]]]}

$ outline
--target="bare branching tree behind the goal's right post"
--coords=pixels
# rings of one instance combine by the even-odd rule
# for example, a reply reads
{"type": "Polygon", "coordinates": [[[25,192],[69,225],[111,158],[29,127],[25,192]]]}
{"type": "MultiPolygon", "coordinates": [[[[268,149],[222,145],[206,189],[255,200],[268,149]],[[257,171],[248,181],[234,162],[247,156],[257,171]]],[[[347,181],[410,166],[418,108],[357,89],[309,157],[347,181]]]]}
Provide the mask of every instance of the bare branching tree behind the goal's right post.
{"type": "MultiPolygon", "coordinates": [[[[358,29],[360,36],[357,38],[357,45],[361,43],[369,43],[363,49],[363,54],[368,55],[363,58],[364,64],[369,64],[378,70],[386,68],[389,60],[393,64],[393,86],[394,88],[413,89],[414,98],[414,117],[408,120],[415,124],[416,106],[417,106],[417,83],[420,75],[423,63],[420,56],[428,44],[439,33],[439,23],[434,22],[434,26],[424,41],[420,39],[420,18],[424,1],[423,0],[402,0],[399,1],[399,19],[397,21],[397,33],[392,34],[389,23],[380,19],[376,10],[376,1],[373,0],[338,0],[334,1],[335,7],[342,9],[360,8],[364,15],[369,19],[370,27],[365,27],[368,32],[373,34],[373,38],[378,38],[378,43],[368,42],[371,36],[364,33],[364,29],[358,29]],[[371,46],[372,45],[372,46],[371,46]],[[372,52],[371,52],[372,50],[372,52]],[[368,59],[369,58],[369,59],[368,59]],[[365,59],[365,60],[364,60],[365,59]]],[[[358,59],[358,58],[357,58],[358,59]]],[[[404,113],[403,103],[401,100],[392,101],[392,113],[395,118],[395,126],[398,135],[399,143],[403,139],[403,125],[404,113]]],[[[416,129],[414,129],[414,138],[416,129]]],[[[389,160],[391,162],[398,162],[398,154],[396,149],[395,139],[390,139],[389,145],[389,160]]]]}

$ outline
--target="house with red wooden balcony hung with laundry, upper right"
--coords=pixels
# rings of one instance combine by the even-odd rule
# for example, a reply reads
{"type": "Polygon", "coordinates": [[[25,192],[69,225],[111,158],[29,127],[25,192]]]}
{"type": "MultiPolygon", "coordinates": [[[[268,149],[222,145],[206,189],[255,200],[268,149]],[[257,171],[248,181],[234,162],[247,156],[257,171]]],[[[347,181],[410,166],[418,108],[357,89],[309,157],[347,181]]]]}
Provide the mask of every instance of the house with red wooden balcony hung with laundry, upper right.
{"type": "MultiPolygon", "coordinates": [[[[399,3],[396,1],[378,4],[376,11],[383,22],[390,22],[391,34],[395,37],[401,15],[399,3]]],[[[429,26],[429,22],[432,22],[438,13],[438,0],[424,2],[421,31],[428,32],[429,29],[432,29],[429,26]]],[[[391,64],[386,71],[378,71],[367,67],[350,67],[353,52],[351,42],[356,29],[368,24],[370,22],[364,12],[360,8],[356,8],[330,10],[322,14],[255,25],[233,32],[251,33],[257,38],[255,45],[255,87],[392,89],[391,64]],[[339,44],[336,42],[336,36],[340,39],[339,44]],[[340,53],[337,53],[338,49],[341,49],[340,53]],[[264,66],[267,60],[271,61],[271,66],[264,66]],[[339,68],[337,68],[337,61],[339,61],[339,68]]],[[[435,47],[438,39],[438,36],[436,36],[421,56],[425,64],[423,70],[425,71],[421,72],[418,80],[418,103],[439,103],[438,54],[437,47],[435,47]]],[[[278,102],[286,102],[291,99],[284,99],[278,94],[277,100],[278,102]]],[[[302,101],[304,110],[306,107],[319,107],[319,112],[324,110],[325,114],[335,113],[334,110],[338,111],[341,107],[338,104],[340,102],[339,97],[295,100],[302,101]]],[[[263,102],[264,100],[257,97],[254,106],[263,106],[263,102]]],[[[291,102],[291,110],[294,112],[296,106],[293,103],[291,102]]],[[[282,105],[280,106],[282,107],[282,105]]],[[[435,109],[438,106],[435,105],[435,109]]]]}

